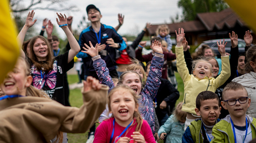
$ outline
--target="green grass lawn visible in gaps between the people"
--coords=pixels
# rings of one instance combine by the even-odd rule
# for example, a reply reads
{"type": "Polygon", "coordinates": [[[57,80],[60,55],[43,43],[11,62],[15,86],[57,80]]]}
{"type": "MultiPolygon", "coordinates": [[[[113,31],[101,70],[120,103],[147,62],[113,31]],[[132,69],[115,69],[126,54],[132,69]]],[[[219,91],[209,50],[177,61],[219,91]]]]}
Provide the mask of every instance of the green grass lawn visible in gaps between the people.
{"type": "MultiPolygon", "coordinates": [[[[180,98],[176,102],[176,105],[177,105],[179,102],[182,102],[183,100],[184,84],[182,82],[182,79],[179,73],[175,73],[175,76],[178,82],[178,91],[180,92],[180,98]]],[[[77,75],[67,75],[67,79],[69,84],[78,82],[77,75]]],[[[81,89],[70,90],[69,103],[72,107],[80,107],[83,104],[81,89]]],[[[96,126],[98,125],[99,124],[96,123],[96,126]]],[[[87,137],[88,137],[88,131],[86,133],[79,133],[79,134],[68,133],[67,134],[68,143],[85,143],[87,140],[87,137]]],[[[163,143],[163,141],[159,140],[158,143],[163,143]]]]}

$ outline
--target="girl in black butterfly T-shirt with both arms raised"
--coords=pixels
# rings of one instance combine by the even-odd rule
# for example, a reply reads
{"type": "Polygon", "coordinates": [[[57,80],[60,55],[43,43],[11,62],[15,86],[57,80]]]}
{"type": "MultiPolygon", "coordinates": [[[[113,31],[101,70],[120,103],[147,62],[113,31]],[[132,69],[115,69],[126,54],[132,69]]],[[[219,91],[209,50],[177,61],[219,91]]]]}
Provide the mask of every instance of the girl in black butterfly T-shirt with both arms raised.
{"type": "MultiPolygon", "coordinates": [[[[67,18],[65,14],[63,16],[61,13],[57,13],[57,15],[59,17],[57,23],[64,30],[71,49],[63,55],[54,58],[49,42],[43,36],[35,36],[29,42],[29,57],[26,57],[22,50],[21,55],[23,58],[26,57],[30,63],[30,74],[33,78],[32,85],[37,89],[43,89],[51,99],[65,105],[64,75],[73,67],[73,58],[79,52],[80,46],[66,26],[67,18]]],[[[33,26],[36,22],[36,20],[32,21],[33,16],[34,11],[29,12],[27,15],[25,25],[17,37],[20,40],[20,43],[23,43],[28,28],[33,26]]],[[[49,24],[48,27],[50,26],[49,24]]],[[[48,40],[52,41],[52,32],[49,30],[50,28],[47,28],[48,40]]]]}

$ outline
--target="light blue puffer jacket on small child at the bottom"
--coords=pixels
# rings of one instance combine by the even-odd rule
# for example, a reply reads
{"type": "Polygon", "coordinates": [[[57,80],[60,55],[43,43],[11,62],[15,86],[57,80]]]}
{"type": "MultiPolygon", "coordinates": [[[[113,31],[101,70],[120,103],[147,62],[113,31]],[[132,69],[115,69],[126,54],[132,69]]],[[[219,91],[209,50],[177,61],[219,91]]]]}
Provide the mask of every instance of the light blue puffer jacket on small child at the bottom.
{"type": "Polygon", "coordinates": [[[161,133],[167,133],[166,143],[181,143],[184,125],[181,125],[175,116],[171,115],[158,130],[158,135],[160,137],[161,133]]]}

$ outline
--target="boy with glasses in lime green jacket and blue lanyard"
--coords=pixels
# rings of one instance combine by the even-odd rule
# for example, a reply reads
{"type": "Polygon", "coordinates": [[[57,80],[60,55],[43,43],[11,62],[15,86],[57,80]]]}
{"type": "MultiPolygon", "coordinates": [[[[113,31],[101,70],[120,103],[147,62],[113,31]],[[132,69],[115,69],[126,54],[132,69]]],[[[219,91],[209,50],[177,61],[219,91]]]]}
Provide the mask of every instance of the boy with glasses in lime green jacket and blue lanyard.
{"type": "Polygon", "coordinates": [[[228,83],[223,89],[222,99],[221,105],[230,115],[214,126],[212,142],[250,142],[256,137],[256,120],[246,115],[251,104],[246,89],[240,83],[228,83]]]}

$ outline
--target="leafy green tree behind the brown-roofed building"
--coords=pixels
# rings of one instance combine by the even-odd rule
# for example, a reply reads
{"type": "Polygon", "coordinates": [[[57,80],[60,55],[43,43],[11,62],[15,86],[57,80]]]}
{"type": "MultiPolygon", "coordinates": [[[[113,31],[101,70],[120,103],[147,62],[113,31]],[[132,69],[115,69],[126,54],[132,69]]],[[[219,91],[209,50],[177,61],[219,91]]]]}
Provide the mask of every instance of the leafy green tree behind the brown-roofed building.
{"type": "Polygon", "coordinates": [[[224,0],[179,0],[178,7],[183,9],[183,19],[194,20],[196,13],[220,12],[229,8],[224,0]]]}

